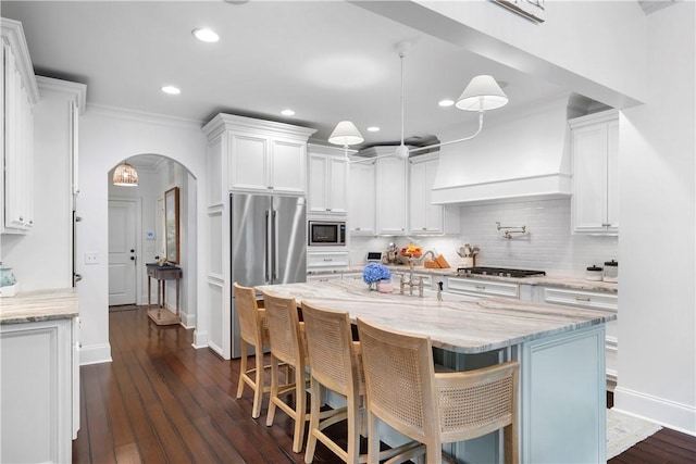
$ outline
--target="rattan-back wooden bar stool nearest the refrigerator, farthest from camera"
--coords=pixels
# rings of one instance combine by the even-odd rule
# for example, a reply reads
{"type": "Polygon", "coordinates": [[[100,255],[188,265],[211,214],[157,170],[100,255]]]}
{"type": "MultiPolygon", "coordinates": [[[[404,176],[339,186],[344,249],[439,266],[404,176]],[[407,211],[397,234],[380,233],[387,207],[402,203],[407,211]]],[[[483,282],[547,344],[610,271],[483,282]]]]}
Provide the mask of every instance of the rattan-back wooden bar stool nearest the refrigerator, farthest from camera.
{"type": "Polygon", "coordinates": [[[256,292],[250,287],[233,284],[235,301],[237,303],[237,316],[239,317],[239,334],[241,336],[241,358],[239,363],[239,381],[237,383],[237,399],[241,398],[245,384],[253,390],[253,405],[251,417],[261,415],[263,393],[271,391],[271,386],[265,385],[264,374],[271,365],[263,362],[263,349],[269,346],[269,328],[265,324],[265,310],[259,308],[256,292]],[[248,347],[253,347],[254,366],[248,365],[248,347]],[[252,378],[253,376],[253,378],[252,378]]]}

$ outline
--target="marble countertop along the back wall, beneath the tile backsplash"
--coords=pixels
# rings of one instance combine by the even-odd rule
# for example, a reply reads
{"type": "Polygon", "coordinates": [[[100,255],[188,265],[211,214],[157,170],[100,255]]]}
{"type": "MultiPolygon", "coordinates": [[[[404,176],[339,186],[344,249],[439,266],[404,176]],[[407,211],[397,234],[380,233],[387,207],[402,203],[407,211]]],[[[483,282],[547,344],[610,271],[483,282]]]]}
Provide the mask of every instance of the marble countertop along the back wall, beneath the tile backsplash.
{"type": "MultiPolygon", "coordinates": [[[[394,273],[408,273],[409,266],[407,265],[391,265],[387,266],[394,273]]],[[[309,274],[336,274],[336,273],[361,273],[364,268],[362,266],[350,266],[347,269],[338,269],[338,271],[321,271],[321,272],[310,272],[309,274]]],[[[423,266],[413,266],[413,272],[418,274],[430,274],[433,276],[447,276],[447,277],[463,277],[463,278],[473,278],[481,280],[497,280],[497,281],[509,281],[512,284],[525,284],[525,285],[545,285],[549,287],[560,287],[560,288],[570,288],[574,290],[585,290],[585,291],[600,291],[607,293],[618,293],[619,285],[610,284],[606,281],[596,281],[596,280],[587,280],[582,277],[571,277],[571,276],[540,276],[540,277],[500,277],[500,276],[483,276],[483,275],[469,275],[469,276],[458,276],[457,268],[430,268],[423,266]]]]}

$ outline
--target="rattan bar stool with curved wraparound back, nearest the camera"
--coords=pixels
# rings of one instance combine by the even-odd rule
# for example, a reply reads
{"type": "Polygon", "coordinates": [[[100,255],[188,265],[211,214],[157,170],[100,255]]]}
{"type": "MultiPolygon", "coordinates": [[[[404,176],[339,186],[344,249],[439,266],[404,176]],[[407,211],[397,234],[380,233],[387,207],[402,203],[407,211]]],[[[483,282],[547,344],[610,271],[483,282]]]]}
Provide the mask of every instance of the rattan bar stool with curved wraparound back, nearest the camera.
{"type": "Polygon", "coordinates": [[[504,428],[505,462],[519,462],[519,363],[435,373],[431,339],[377,327],[358,318],[368,392],[368,454],[377,463],[378,422],[425,446],[425,462],[440,463],[443,443],[504,428]]]}

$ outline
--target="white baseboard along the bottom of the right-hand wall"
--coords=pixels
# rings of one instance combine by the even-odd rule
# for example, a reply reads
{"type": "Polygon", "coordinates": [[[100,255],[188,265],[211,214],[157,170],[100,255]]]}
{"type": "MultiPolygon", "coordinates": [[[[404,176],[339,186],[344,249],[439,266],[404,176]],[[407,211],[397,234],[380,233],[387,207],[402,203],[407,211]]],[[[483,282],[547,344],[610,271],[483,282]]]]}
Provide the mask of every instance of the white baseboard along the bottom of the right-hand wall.
{"type": "Polygon", "coordinates": [[[619,387],[613,390],[617,411],[696,437],[696,406],[619,387]]]}

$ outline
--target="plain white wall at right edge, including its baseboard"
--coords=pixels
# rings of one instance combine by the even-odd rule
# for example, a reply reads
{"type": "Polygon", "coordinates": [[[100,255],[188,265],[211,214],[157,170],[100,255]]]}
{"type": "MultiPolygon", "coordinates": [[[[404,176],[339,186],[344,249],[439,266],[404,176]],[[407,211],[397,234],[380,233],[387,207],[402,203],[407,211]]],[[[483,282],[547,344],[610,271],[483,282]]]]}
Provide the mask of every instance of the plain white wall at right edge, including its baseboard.
{"type": "Polygon", "coordinates": [[[616,407],[696,435],[696,4],[649,16],[649,98],[621,118],[616,407]]]}

